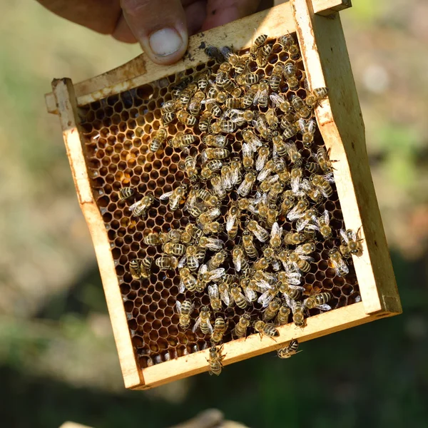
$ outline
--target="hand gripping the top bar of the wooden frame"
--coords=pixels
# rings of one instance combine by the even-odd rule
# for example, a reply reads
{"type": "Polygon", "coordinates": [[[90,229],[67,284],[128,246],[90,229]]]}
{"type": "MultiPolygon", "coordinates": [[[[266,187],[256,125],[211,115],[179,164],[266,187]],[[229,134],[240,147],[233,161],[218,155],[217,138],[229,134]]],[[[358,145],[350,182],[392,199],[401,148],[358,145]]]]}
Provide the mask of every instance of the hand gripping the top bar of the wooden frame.
{"type": "Polygon", "coordinates": [[[152,61],[178,61],[188,36],[253,14],[260,0],[38,0],[65,19],[126,43],[152,61]]]}

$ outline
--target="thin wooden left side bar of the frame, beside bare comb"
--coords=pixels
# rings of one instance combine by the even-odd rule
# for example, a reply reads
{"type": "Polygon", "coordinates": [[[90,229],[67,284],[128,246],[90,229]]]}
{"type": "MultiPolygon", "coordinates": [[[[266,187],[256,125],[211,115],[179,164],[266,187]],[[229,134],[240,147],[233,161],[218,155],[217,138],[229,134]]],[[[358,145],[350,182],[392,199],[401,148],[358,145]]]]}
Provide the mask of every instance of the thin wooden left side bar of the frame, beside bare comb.
{"type": "Polygon", "coordinates": [[[83,153],[85,143],[81,139],[81,133],[79,132],[73,83],[69,78],[56,79],[52,82],[52,88],[60,116],[68,161],[70,162],[74,184],[76,185],[78,202],[86,223],[88,223],[96,252],[125,386],[128,388],[136,387],[143,384],[143,379],[133,352],[116,269],[109,250],[110,245],[106,228],[103,225],[103,219],[98,207],[93,200],[90,178],[88,177],[83,153]]]}

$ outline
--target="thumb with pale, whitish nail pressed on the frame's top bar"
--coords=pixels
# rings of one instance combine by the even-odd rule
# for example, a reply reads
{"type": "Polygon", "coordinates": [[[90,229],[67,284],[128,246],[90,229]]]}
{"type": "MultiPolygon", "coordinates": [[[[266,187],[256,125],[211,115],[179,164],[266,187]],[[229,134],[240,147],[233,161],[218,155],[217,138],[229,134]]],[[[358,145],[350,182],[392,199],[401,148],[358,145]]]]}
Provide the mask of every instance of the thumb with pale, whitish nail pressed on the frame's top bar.
{"type": "Polygon", "coordinates": [[[180,0],[121,0],[123,16],[153,62],[172,64],[185,53],[188,30],[180,0]]]}

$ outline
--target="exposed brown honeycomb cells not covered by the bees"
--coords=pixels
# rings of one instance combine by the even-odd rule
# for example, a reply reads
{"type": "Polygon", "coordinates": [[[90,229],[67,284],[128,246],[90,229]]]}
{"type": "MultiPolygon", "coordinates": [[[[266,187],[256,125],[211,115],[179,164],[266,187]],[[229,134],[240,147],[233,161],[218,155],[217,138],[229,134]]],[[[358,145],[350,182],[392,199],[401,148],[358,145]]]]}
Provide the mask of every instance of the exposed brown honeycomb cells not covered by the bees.
{"type": "MultiPolygon", "coordinates": [[[[255,61],[250,61],[249,69],[260,76],[270,76],[275,63],[285,63],[289,54],[276,40],[270,40],[273,49],[268,57],[267,65],[258,67],[255,61]]],[[[297,42],[296,42],[297,43],[297,42]]],[[[245,54],[243,52],[242,54],[245,54]]],[[[183,170],[179,168],[188,153],[180,148],[173,148],[163,144],[162,148],[152,153],[150,143],[154,133],[161,128],[161,107],[173,97],[171,91],[185,78],[192,78],[196,73],[218,71],[219,64],[214,59],[207,58],[205,64],[190,68],[183,73],[161,78],[150,84],[124,91],[118,95],[109,96],[80,108],[81,128],[86,142],[86,160],[91,186],[96,203],[106,225],[108,239],[111,245],[116,273],[118,276],[123,305],[128,318],[128,327],[131,332],[132,343],[136,358],[141,368],[168,361],[193,352],[205,350],[210,347],[210,337],[203,335],[200,330],[193,332],[191,328],[183,331],[179,327],[179,315],[175,310],[176,300],[183,302],[190,299],[195,305],[192,312],[192,325],[198,317],[200,307],[210,305],[210,298],[205,288],[204,292],[179,292],[180,276],[178,270],[160,270],[153,263],[150,277],[134,280],[131,276],[129,263],[136,258],[145,258],[146,255],[157,258],[163,254],[161,246],[151,246],[143,243],[143,238],[151,232],[168,233],[171,229],[184,228],[193,218],[183,212],[183,203],[178,210],[171,211],[168,200],[159,200],[163,193],[170,192],[182,183],[189,183],[183,170]],[[131,186],[136,190],[133,197],[123,200],[119,192],[122,188],[131,186]],[[153,193],[156,199],[148,209],[146,218],[133,217],[130,206],[143,198],[146,193],[153,193]]],[[[280,93],[290,98],[292,93],[305,98],[304,86],[305,69],[301,59],[295,62],[299,88],[291,91],[282,81],[280,93]]],[[[260,108],[260,107],[259,107],[260,108]]],[[[176,119],[169,123],[168,138],[175,136],[179,131],[193,133],[198,141],[190,146],[190,155],[195,156],[205,148],[202,143],[203,132],[198,126],[188,127],[176,119]]],[[[233,134],[233,144],[230,145],[231,157],[240,156],[243,136],[238,128],[233,134]]],[[[302,154],[303,161],[311,162],[311,151],[302,145],[300,133],[291,138],[302,154]]],[[[320,132],[315,132],[312,152],[317,148],[325,147],[320,132]]],[[[306,170],[304,174],[309,176],[306,170]]],[[[333,195],[322,203],[317,204],[317,210],[330,212],[330,226],[333,237],[329,240],[317,240],[316,251],[312,253],[315,259],[311,263],[310,271],[302,274],[302,286],[305,295],[314,290],[330,292],[332,300],[329,305],[334,310],[337,307],[351,305],[360,300],[359,287],[352,260],[347,260],[349,274],[338,276],[329,263],[329,250],[340,245],[338,231],[345,229],[345,224],[337,196],[335,184],[332,184],[333,195]]],[[[225,223],[225,216],[229,204],[237,200],[236,191],[228,193],[221,206],[220,223],[225,223]]],[[[313,208],[313,207],[311,207],[313,208]]],[[[285,232],[295,230],[295,222],[285,218],[278,220],[285,232]]],[[[225,250],[230,253],[236,242],[240,242],[241,232],[235,240],[229,240],[226,233],[220,233],[225,250]]],[[[260,253],[260,243],[254,240],[260,253]]],[[[209,251],[206,260],[214,253],[209,251]]],[[[226,272],[234,273],[231,257],[222,264],[226,272]]],[[[233,340],[232,332],[239,317],[244,312],[252,315],[252,319],[260,318],[262,306],[253,302],[246,310],[237,305],[224,308],[217,312],[215,317],[221,315],[229,321],[228,330],[223,342],[233,340]]],[[[310,315],[316,315],[320,310],[309,310],[310,315]]],[[[214,317],[212,318],[213,323],[214,317]]],[[[290,317],[291,320],[291,317],[290,317]]],[[[252,334],[253,329],[248,333],[252,334]]]]}

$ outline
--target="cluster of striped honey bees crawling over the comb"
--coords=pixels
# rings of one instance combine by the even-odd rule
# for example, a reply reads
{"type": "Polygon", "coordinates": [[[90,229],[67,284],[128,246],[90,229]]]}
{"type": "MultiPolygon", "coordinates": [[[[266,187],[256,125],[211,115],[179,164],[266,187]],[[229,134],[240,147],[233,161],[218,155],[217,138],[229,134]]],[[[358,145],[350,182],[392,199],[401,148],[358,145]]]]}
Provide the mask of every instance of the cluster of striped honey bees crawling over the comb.
{"type": "MultiPolygon", "coordinates": [[[[358,232],[334,230],[329,210],[319,208],[335,192],[335,161],[314,145],[314,109],[328,91],[310,90],[306,80],[305,90],[300,88],[304,71],[296,65],[294,37],[269,41],[262,35],[244,54],[213,46],[206,54],[215,59],[215,71],[173,89],[162,107],[163,127],[150,143],[153,152],[170,146],[185,153],[185,180],[158,199],[171,212],[183,210],[188,224],[168,233],[147,231],[143,243],[162,255],[131,260],[129,271],[139,280],[151,275],[153,264],[175,270],[180,328],[210,342],[210,374],[218,375],[227,332],[234,339],[254,332],[275,340],[277,327],[305,327],[310,310],[331,309],[330,292],[305,287],[317,243],[330,240],[330,267],[338,276],[348,274],[351,256],[361,255],[362,245],[358,232]],[[287,60],[274,63],[267,76],[263,67],[275,43],[287,60]],[[168,139],[173,121],[200,132],[168,139]],[[195,143],[200,151],[190,154],[195,143]],[[195,307],[195,293],[208,295],[210,305],[195,307]],[[233,325],[231,310],[240,314],[233,325]]],[[[133,188],[120,192],[122,199],[134,195],[133,188]]],[[[146,215],[154,202],[153,194],[144,195],[129,206],[131,214],[146,215]]],[[[297,347],[292,340],[277,355],[291,357],[297,347]]]]}

